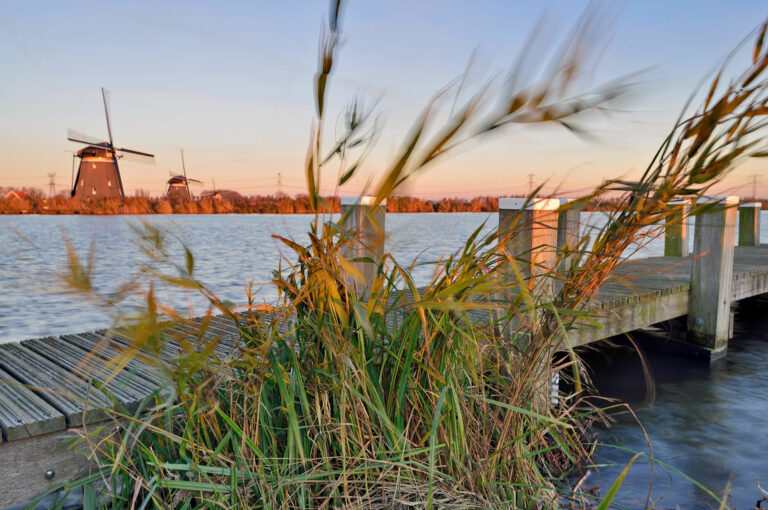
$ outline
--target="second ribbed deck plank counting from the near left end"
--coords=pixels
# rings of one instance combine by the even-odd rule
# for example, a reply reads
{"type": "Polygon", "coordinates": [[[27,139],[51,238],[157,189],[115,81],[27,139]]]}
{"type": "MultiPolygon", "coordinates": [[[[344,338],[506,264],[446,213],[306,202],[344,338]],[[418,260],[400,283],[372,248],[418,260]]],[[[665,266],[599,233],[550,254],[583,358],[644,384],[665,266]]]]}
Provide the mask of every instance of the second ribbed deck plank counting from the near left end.
{"type": "Polygon", "coordinates": [[[19,344],[0,344],[0,367],[62,413],[68,427],[107,419],[98,408],[111,404],[99,390],[19,344]]]}

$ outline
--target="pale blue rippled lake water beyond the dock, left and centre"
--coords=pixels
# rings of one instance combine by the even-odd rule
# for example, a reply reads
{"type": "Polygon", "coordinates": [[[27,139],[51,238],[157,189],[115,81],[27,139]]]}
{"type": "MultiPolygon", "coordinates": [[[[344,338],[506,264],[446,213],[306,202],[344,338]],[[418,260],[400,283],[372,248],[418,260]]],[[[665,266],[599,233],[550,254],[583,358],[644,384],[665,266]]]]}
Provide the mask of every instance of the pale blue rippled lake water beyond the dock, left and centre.
{"type": "MultiPolygon", "coordinates": [[[[95,243],[94,286],[108,293],[117,290],[144,260],[134,244],[131,225],[147,221],[164,226],[191,247],[198,278],[222,299],[244,303],[245,284],[269,281],[281,253],[295,261],[272,235],[305,244],[311,219],[311,215],[0,217],[0,343],[110,324],[102,308],[83,302],[56,276],[66,261],[64,235],[82,258],[95,243]]],[[[484,221],[489,229],[497,226],[493,214],[389,214],[387,247],[405,264],[417,257],[434,261],[460,248],[484,221]]],[[[177,260],[183,261],[178,250],[177,260]]],[[[432,270],[429,265],[417,266],[417,283],[426,283],[432,270]]],[[[159,293],[176,305],[188,304],[192,313],[205,311],[205,302],[196,295],[159,293]]],[[[274,291],[264,286],[258,296],[269,300],[274,291]]]]}

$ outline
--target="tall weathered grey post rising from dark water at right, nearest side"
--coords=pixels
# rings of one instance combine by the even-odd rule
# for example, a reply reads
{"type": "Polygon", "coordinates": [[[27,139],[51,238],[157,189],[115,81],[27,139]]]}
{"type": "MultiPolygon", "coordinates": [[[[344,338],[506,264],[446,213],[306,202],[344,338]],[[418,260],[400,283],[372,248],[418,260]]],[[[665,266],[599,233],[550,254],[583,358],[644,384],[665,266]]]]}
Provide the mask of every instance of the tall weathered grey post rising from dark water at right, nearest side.
{"type": "Polygon", "coordinates": [[[688,341],[725,355],[731,327],[731,285],[739,197],[705,197],[697,205],[688,297],[688,341]]]}

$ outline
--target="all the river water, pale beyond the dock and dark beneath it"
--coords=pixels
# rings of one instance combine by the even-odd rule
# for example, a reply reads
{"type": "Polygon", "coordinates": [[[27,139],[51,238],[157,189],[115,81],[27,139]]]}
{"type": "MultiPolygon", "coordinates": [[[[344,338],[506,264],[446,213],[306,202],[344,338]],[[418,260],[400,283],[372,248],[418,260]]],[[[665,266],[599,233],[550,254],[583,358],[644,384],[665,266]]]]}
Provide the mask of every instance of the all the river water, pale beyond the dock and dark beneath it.
{"type": "MultiPolygon", "coordinates": [[[[288,261],[295,257],[271,236],[304,244],[310,220],[308,215],[0,216],[0,343],[111,323],[103,303],[84,301],[57,276],[66,262],[65,237],[83,258],[93,244],[93,285],[109,295],[135,274],[142,259],[131,226],[146,221],[167,228],[191,248],[198,278],[221,298],[243,303],[244,286],[251,280],[261,288],[259,299],[274,298],[268,286],[258,284],[269,281],[283,255],[288,261]]],[[[600,216],[589,221],[599,224],[600,216]]],[[[486,229],[497,227],[495,214],[388,214],[387,249],[401,263],[418,258],[422,264],[414,275],[417,284],[424,284],[433,271],[428,262],[459,249],[483,222],[486,229]]],[[[762,238],[768,239],[766,212],[762,227],[762,238]]],[[[174,250],[181,262],[178,246],[174,250]]],[[[654,240],[636,255],[659,255],[662,250],[661,240],[654,240]]],[[[160,299],[187,306],[190,313],[205,310],[194,295],[163,287],[157,291],[160,299]]],[[[727,358],[713,367],[647,353],[655,383],[652,401],[646,398],[636,353],[601,348],[589,361],[601,393],[630,403],[637,412],[657,459],[719,494],[730,482],[731,503],[753,508],[759,499],[756,477],[768,486],[768,318],[738,324],[727,358]]],[[[611,428],[599,431],[601,441],[647,452],[641,427],[628,415],[616,419],[611,428]]],[[[596,457],[600,467],[585,486],[600,485],[605,493],[631,456],[601,448],[596,457]]],[[[649,477],[648,463],[638,461],[619,492],[621,503],[642,507],[649,477]]],[[[652,498],[660,497],[657,508],[717,508],[703,490],[664,468],[656,469],[653,483],[652,498]]]]}

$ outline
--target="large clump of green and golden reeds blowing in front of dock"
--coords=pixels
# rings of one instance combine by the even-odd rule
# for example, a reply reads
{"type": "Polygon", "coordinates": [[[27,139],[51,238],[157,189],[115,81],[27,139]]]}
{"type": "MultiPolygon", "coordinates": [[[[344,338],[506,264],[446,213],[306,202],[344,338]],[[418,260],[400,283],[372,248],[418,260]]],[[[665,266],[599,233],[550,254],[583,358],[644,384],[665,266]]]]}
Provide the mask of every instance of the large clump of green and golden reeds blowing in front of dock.
{"type": "MultiPolygon", "coordinates": [[[[151,223],[137,227],[148,257],[140,278],[199,292],[210,311],[191,320],[149,286],[141,313],[116,320],[131,347],[115,369],[139,357],[168,386],[140,412],[115,410],[112,424],[82,434],[94,474],[69,487],[85,485],[95,504],[93,486],[104,480],[101,490],[115,506],[136,508],[556,508],[567,499],[607,508],[621,479],[602,500],[567,484],[570,470],[588,462],[589,422],[600,416],[582,399],[588,381],[568,331],[589,323],[599,285],[665,218],[670,199],[700,196],[744,158],[765,155],[765,26],[746,70],[714,79],[640,179],[608,181],[569,205],[619,196],[591,245],[566,244],[553,266],[528,277],[530,253],[510,250],[524,224],[504,234],[478,229],[419,288],[410,261],[386,251],[377,260],[350,257],[357,232],[345,218],[323,215],[330,207],[318,191],[322,172],[341,168],[343,186],[372,143],[372,112],[359,101],[346,112],[346,133],[330,148],[323,141],[340,13],[334,4],[315,77],[306,165],[315,216],[306,240],[280,238],[289,254],[271,282],[279,299],[263,303],[248,292],[243,305],[222,302],[196,278],[192,247],[180,248],[172,232],[151,223]],[[370,281],[361,277],[366,264],[375,268],[370,281]],[[214,314],[238,326],[239,349],[217,350],[214,314]],[[555,366],[556,351],[565,355],[555,366]],[[555,371],[573,391],[550,405],[555,371]]],[[[584,129],[584,114],[608,108],[626,90],[620,80],[574,91],[593,50],[594,14],[541,73],[513,72],[468,98],[458,94],[461,80],[441,91],[369,194],[390,198],[456,147],[508,125],[584,129]],[[449,91],[461,106],[441,116],[449,91]]],[[[120,296],[99,295],[81,260],[70,252],[70,283],[114,306],[120,296]]]]}

